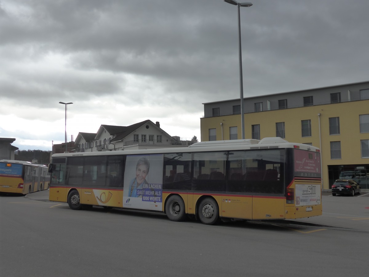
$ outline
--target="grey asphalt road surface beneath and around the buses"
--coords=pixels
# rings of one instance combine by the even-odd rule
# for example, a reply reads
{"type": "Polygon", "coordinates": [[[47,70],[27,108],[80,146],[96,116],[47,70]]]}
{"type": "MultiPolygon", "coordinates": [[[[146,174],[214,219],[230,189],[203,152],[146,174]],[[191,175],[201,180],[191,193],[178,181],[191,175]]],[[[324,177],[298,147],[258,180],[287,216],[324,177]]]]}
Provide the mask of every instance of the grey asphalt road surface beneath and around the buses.
{"type": "Polygon", "coordinates": [[[323,215],[303,220],[207,226],[2,195],[0,276],[368,276],[368,196],[323,193],[323,215]]]}

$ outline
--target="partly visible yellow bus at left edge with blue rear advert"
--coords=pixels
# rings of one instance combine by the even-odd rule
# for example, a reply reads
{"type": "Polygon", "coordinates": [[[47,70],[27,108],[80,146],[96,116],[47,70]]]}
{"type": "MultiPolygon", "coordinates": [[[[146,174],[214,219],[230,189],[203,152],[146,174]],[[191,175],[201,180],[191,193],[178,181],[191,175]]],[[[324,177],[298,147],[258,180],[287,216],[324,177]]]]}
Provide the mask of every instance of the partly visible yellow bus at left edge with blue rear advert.
{"type": "Polygon", "coordinates": [[[0,160],[0,192],[28,194],[48,189],[48,167],[27,161],[0,160]]]}

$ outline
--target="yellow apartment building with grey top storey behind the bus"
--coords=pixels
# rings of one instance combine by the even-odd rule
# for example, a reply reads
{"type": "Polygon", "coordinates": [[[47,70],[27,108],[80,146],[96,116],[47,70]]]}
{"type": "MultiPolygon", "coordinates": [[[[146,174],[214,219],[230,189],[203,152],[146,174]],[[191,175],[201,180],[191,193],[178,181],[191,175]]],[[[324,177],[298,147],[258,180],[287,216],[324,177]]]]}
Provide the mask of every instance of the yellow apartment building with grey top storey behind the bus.
{"type": "MultiPolygon", "coordinates": [[[[241,139],[240,99],[203,103],[201,141],[241,139]]],[[[369,81],[244,98],[245,138],[321,149],[323,191],[336,179],[369,192],[369,81]]]]}

